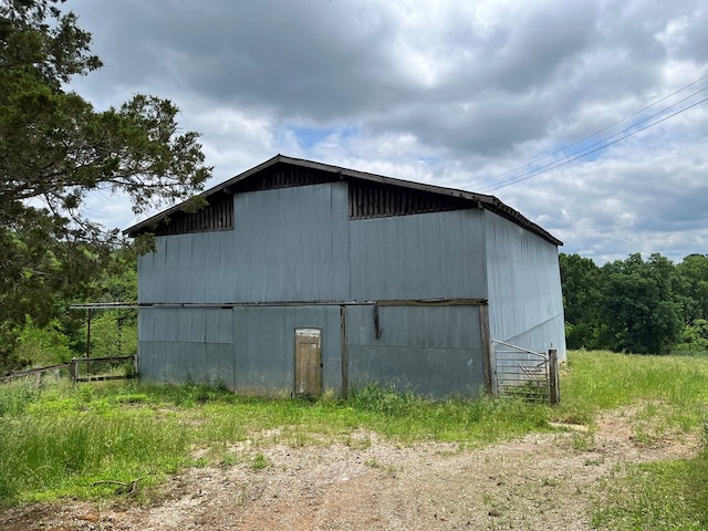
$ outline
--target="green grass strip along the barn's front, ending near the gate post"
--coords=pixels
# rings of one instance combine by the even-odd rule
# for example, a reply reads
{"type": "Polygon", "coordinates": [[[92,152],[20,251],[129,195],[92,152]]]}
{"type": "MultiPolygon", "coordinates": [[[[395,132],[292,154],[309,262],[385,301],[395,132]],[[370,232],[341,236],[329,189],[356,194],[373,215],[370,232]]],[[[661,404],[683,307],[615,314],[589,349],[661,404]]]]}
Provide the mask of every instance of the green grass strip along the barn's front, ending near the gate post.
{"type": "Polygon", "coordinates": [[[273,444],[361,448],[360,433],[481,446],[548,430],[551,416],[550,407],[517,400],[430,402],[377,386],[310,402],[136,382],[37,387],[28,378],[0,386],[0,504],[101,498],[136,480],[148,492],[187,466],[266,468],[261,449],[273,444]],[[239,449],[247,439],[250,450],[239,449]]]}

